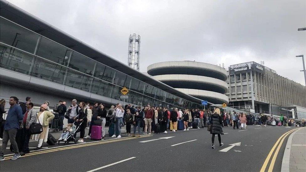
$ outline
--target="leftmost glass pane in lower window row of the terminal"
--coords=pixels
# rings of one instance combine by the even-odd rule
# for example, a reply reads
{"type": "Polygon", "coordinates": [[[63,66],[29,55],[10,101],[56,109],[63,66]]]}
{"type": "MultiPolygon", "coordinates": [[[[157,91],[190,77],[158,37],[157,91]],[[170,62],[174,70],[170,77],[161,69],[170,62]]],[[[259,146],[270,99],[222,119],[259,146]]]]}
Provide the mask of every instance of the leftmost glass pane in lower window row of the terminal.
{"type": "Polygon", "coordinates": [[[0,64],[2,68],[28,74],[33,55],[25,53],[20,50],[11,49],[11,47],[1,44],[0,45],[0,64]]]}

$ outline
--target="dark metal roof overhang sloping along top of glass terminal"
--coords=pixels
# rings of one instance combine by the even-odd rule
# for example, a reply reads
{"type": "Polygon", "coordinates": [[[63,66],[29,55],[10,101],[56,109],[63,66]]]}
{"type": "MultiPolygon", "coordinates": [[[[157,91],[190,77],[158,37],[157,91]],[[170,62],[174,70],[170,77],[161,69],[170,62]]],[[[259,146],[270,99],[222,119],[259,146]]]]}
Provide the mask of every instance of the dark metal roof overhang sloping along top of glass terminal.
{"type": "Polygon", "coordinates": [[[102,53],[101,51],[91,47],[90,45],[82,42],[81,40],[74,38],[73,36],[63,32],[62,30],[52,26],[49,23],[37,18],[36,16],[24,11],[23,9],[9,3],[8,1],[0,1],[0,15],[4,18],[7,18],[19,25],[28,28],[38,34],[41,34],[59,44],[62,44],[72,50],[75,50],[87,57],[90,57],[93,60],[97,60],[104,65],[107,65],[113,69],[119,70],[129,76],[135,77],[140,81],[144,81],[152,86],[160,88],[163,91],[167,91],[173,95],[182,97],[188,101],[195,102],[200,104],[201,100],[193,96],[189,96],[180,91],[175,90],[174,88],[154,80],[150,76],[130,68],[124,63],[102,53]]]}

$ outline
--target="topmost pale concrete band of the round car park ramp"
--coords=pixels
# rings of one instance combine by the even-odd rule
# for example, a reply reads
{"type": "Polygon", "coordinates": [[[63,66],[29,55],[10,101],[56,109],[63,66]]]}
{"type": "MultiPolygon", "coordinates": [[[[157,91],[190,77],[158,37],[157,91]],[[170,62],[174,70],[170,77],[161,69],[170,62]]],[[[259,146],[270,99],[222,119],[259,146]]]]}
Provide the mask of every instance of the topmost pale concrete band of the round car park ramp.
{"type": "Polygon", "coordinates": [[[152,71],[160,70],[163,68],[194,68],[194,69],[202,69],[202,70],[209,70],[215,73],[219,73],[224,77],[225,81],[227,79],[227,71],[219,67],[217,65],[204,63],[204,62],[197,62],[197,61],[164,61],[151,64],[147,67],[148,74],[151,75],[152,71]]]}

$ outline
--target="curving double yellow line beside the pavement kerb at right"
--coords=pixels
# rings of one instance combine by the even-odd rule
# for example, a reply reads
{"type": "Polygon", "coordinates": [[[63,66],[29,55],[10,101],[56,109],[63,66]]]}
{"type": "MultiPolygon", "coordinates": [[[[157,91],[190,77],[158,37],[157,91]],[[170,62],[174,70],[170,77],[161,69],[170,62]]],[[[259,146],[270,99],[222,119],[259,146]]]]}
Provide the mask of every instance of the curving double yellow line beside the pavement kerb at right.
{"type": "Polygon", "coordinates": [[[270,162],[269,169],[268,169],[269,172],[270,172],[270,171],[273,171],[273,167],[274,167],[274,164],[275,164],[275,160],[276,160],[276,158],[277,158],[277,154],[278,154],[278,152],[279,152],[279,149],[282,147],[282,143],[284,142],[285,138],[286,138],[289,134],[291,134],[292,132],[294,132],[294,131],[297,130],[297,129],[298,129],[298,128],[293,129],[293,130],[290,130],[290,131],[284,133],[280,138],[278,138],[278,140],[276,141],[276,143],[275,143],[274,146],[272,147],[271,151],[269,152],[269,154],[268,154],[268,156],[267,156],[265,162],[263,163],[263,165],[262,165],[262,167],[261,167],[261,169],[260,169],[260,172],[266,171],[266,167],[267,167],[267,165],[268,165],[268,163],[269,163],[269,161],[270,161],[270,158],[271,158],[271,156],[272,156],[272,154],[273,154],[275,148],[277,147],[277,148],[276,148],[276,151],[274,152],[274,155],[273,155],[273,157],[272,157],[272,160],[271,160],[271,162],[270,162]],[[278,144],[278,143],[279,143],[279,144],[278,144]],[[278,145],[278,146],[277,146],[277,145],[278,145]]]}

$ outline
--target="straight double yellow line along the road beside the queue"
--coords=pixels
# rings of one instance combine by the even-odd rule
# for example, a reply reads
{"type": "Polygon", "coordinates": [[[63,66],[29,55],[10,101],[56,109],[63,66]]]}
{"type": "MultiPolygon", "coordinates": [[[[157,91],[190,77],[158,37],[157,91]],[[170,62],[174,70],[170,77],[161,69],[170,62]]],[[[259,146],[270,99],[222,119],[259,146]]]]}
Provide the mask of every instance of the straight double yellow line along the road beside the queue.
{"type": "MultiPolygon", "coordinates": [[[[109,141],[101,141],[101,142],[94,142],[94,143],[89,142],[89,143],[79,144],[79,145],[76,144],[76,145],[72,145],[72,146],[69,146],[69,147],[61,147],[61,148],[56,148],[55,147],[54,149],[42,150],[42,151],[39,151],[39,152],[29,153],[29,154],[26,154],[22,157],[33,156],[33,155],[38,155],[38,154],[46,154],[46,153],[50,153],[50,152],[56,152],[56,151],[67,150],[67,149],[82,148],[82,147],[98,145],[98,144],[113,143],[113,142],[119,142],[119,141],[124,141],[124,140],[136,139],[136,138],[145,138],[145,137],[151,137],[151,135],[145,135],[145,136],[140,136],[140,137],[126,137],[126,138],[121,138],[121,139],[113,139],[113,140],[109,140],[109,141]]],[[[12,157],[13,156],[5,157],[4,160],[11,159],[12,157]]]]}

